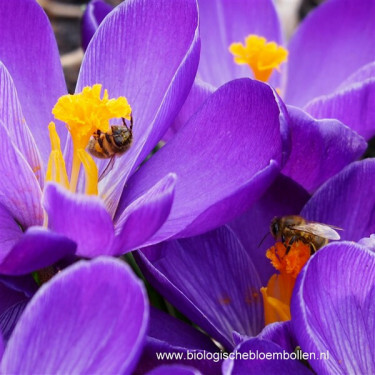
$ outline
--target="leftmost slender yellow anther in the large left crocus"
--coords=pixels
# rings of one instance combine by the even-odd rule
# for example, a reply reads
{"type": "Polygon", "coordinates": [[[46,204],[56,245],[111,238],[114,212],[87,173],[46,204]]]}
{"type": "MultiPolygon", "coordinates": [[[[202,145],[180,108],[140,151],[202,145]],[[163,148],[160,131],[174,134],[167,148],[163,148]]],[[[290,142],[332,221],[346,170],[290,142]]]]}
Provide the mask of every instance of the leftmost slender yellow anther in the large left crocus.
{"type": "Polygon", "coordinates": [[[56,132],[55,124],[50,122],[48,129],[52,151],[48,160],[46,180],[57,182],[68,189],[68,174],[66,173],[65,161],[61,152],[60,138],[56,132]]]}

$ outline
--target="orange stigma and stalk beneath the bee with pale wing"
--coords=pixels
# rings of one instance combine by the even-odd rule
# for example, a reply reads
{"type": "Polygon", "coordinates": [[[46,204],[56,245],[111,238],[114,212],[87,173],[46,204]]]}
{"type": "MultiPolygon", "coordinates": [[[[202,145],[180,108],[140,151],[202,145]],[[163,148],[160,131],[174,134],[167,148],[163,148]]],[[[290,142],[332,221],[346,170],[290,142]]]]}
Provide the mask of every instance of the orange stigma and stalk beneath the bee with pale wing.
{"type": "Polygon", "coordinates": [[[272,275],[267,286],[260,290],[263,296],[266,325],[291,319],[290,301],[294,284],[310,255],[310,246],[302,241],[296,241],[292,245],[276,242],[267,250],[266,257],[270,259],[278,273],[272,275]]]}

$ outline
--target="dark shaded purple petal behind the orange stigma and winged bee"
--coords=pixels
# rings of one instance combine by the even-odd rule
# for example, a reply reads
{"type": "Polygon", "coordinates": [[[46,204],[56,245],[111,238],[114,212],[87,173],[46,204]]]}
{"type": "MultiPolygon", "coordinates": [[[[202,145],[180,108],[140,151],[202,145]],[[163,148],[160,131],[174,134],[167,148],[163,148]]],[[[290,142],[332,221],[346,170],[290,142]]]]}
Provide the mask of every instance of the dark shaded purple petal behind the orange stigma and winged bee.
{"type": "Polygon", "coordinates": [[[275,243],[270,233],[271,220],[275,216],[298,214],[309,197],[297,183],[279,175],[248,211],[229,223],[258,270],[262,285],[267,285],[275,273],[265,256],[266,250],[275,243]]]}

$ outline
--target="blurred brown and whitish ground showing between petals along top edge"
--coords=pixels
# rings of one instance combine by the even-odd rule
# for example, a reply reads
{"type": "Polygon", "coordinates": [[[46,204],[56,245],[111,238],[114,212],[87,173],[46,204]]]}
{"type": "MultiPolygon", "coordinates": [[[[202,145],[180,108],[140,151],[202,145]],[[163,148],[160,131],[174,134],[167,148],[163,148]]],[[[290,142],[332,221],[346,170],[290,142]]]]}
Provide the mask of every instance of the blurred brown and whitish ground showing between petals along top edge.
{"type": "MultiPolygon", "coordinates": [[[[51,20],[56,35],[61,63],[70,93],[74,92],[83,58],[81,48],[81,18],[88,0],[37,0],[51,20]]],[[[106,0],[112,6],[123,0],[106,0]]],[[[152,1],[152,0],[149,0],[152,1]]],[[[258,0],[263,1],[263,0],[258,0]]],[[[298,23],[324,0],[274,0],[282,20],[286,39],[298,23]]]]}

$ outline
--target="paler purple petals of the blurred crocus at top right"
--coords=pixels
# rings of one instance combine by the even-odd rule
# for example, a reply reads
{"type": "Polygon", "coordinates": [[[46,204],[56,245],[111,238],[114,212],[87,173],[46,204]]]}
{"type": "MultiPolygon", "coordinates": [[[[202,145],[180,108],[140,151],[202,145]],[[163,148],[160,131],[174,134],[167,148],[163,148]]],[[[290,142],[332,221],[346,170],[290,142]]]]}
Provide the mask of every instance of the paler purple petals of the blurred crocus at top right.
{"type": "MultiPolygon", "coordinates": [[[[198,3],[202,48],[197,75],[215,87],[253,74],[248,66],[234,63],[228,50],[232,43],[255,34],[283,44],[272,1],[198,3]]],[[[288,108],[292,151],[283,173],[310,192],[364,151],[363,140],[343,124],[367,140],[375,135],[374,15],[373,0],[361,6],[355,0],[326,1],[292,36],[281,74],[271,75],[270,84],[280,88],[284,101],[293,106],[288,108]]],[[[192,90],[190,95],[199,94],[192,90]]]]}

